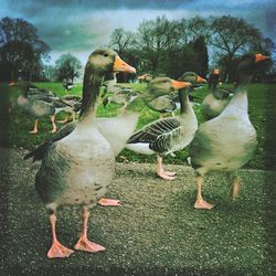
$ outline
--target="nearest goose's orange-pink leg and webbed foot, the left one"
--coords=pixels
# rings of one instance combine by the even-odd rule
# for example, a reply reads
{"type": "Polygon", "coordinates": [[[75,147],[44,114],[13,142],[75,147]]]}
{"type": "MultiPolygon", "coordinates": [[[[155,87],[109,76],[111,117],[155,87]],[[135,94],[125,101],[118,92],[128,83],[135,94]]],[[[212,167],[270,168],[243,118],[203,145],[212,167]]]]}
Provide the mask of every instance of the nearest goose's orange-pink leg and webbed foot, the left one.
{"type": "Polygon", "coordinates": [[[52,242],[52,247],[47,252],[47,257],[49,258],[56,258],[56,257],[68,257],[74,251],[63,246],[56,238],[56,233],[55,233],[55,223],[56,223],[56,216],[55,214],[50,215],[50,222],[52,226],[52,233],[53,233],[53,242],[52,242]]]}

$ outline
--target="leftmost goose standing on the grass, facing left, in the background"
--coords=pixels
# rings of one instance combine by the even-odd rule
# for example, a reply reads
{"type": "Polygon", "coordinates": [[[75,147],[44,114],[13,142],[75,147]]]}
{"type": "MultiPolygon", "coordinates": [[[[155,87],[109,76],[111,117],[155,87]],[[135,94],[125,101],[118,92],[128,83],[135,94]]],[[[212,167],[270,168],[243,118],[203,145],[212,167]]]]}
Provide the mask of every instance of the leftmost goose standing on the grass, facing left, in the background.
{"type": "Polygon", "coordinates": [[[52,134],[57,129],[55,124],[55,115],[63,110],[67,105],[62,103],[52,92],[38,88],[35,85],[19,81],[10,83],[9,86],[20,88],[21,95],[18,97],[18,106],[35,118],[34,128],[30,134],[38,134],[39,118],[50,116],[53,126],[52,134]]]}

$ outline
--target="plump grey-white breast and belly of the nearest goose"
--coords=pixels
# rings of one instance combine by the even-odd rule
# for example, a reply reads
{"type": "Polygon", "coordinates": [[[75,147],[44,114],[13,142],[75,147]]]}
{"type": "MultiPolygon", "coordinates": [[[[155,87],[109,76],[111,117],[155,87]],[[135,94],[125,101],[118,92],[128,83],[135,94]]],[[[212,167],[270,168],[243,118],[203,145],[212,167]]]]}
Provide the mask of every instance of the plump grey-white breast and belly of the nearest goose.
{"type": "Polygon", "coordinates": [[[114,162],[113,150],[96,127],[93,136],[84,139],[82,130],[75,130],[50,146],[36,174],[35,188],[46,204],[93,205],[110,183],[114,162]],[[76,151],[79,145],[82,149],[76,151]]]}

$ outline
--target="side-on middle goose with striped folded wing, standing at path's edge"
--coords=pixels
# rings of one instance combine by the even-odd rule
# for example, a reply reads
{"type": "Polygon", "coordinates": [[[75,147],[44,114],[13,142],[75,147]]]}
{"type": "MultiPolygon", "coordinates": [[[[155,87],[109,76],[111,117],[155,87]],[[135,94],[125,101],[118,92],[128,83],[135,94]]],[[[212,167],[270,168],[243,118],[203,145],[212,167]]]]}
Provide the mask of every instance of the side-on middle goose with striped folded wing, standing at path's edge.
{"type": "Polygon", "coordinates": [[[162,157],[188,146],[195,130],[198,120],[188,99],[191,84],[171,79],[168,89],[180,89],[181,110],[179,116],[158,119],[135,132],[126,145],[127,149],[142,155],[157,153],[157,176],[164,180],[173,180],[176,172],[164,171],[162,157]],[[182,89],[185,88],[185,89],[182,89]]]}

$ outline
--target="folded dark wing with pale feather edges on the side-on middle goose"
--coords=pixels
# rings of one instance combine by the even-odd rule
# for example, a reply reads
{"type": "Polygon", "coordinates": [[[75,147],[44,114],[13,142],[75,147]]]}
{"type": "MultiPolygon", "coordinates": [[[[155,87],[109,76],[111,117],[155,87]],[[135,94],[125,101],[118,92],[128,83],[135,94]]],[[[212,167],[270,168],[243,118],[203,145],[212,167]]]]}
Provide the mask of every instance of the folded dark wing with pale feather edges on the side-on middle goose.
{"type": "Polygon", "coordinates": [[[159,153],[172,150],[172,144],[181,130],[180,121],[176,117],[157,120],[134,134],[128,144],[147,142],[149,148],[159,153]]]}

